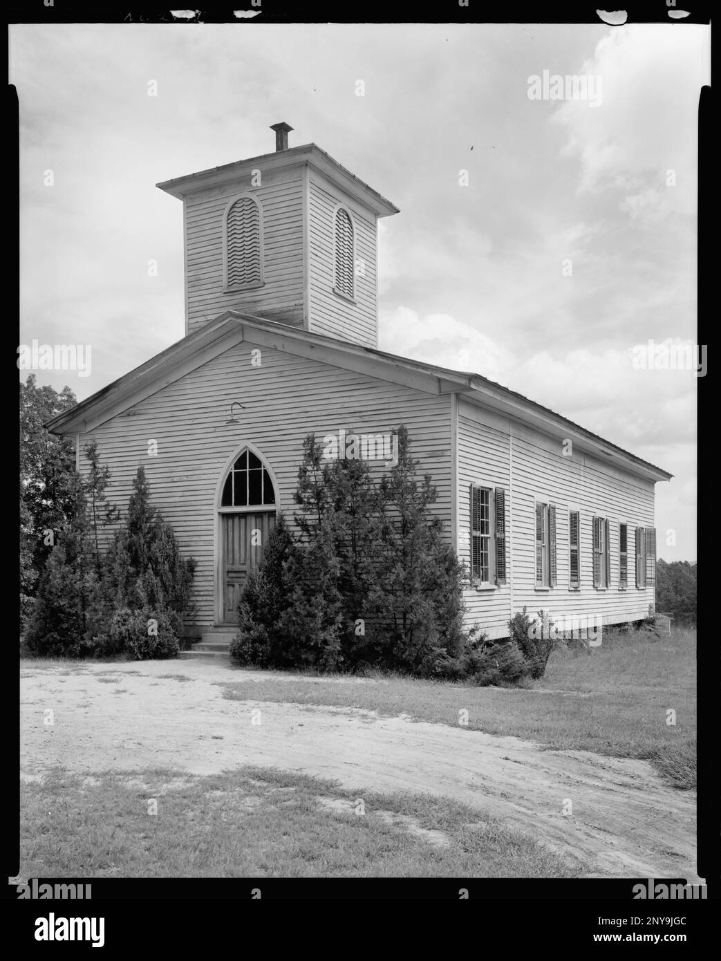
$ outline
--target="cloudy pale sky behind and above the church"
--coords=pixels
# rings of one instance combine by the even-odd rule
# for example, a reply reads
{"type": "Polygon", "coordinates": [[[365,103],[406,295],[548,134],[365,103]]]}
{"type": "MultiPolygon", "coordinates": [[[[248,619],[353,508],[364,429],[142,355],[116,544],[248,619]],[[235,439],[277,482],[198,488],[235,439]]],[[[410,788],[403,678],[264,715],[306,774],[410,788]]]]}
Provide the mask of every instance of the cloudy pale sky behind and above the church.
{"type": "Polygon", "coordinates": [[[82,400],[181,339],[182,204],[155,185],[269,153],[285,120],[290,146],[400,208],[379,222],[381,349],[483,374],[672,473],[659,556],[695,560],[696,376],[634,357],[696,344],[708,28],[15,25],[10,72],[18,342],[92,348],[89,376],[39,383],[82,400]],[[590,77],[589,96],[532,99],[544,71],[590,77]]]}

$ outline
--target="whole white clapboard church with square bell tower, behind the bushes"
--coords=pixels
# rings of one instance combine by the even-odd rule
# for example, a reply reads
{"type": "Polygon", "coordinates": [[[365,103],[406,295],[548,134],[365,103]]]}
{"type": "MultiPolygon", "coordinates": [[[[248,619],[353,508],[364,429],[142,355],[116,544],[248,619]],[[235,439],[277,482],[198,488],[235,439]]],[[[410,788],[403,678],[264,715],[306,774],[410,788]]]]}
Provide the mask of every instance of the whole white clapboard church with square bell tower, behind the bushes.
{"type": "Polygon", "coordinates": [[[185,336],[49,425],[74,435],[81,470],[98,442],[121,508],[144,465],[197,561],[188,635],[232,636],[254,541],[292,517],[306,434],[400,424],[467,565],[469,627],[506,636],[524,605],[582,629],[647,617],[671,475],[480,374],[379,351],[377,222],[398,209],[271,129],[274,153],[158,185],[183,204],[185,336]]]}

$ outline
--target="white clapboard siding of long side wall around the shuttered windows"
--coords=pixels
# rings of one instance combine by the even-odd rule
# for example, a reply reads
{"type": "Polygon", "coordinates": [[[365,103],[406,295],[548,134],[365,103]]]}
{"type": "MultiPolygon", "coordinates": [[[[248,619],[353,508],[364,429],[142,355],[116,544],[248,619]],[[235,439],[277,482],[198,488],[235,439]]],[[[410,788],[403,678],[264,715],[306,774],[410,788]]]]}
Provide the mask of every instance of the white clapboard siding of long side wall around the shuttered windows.
{"type": "Polygon", "coordinates": [[[533,431],[461,400],[458,421],[459,554],[469,560],[469,484],[507,490],[509,582],[492,590],[468,588],[468,623],[490,636],[508,633],[510,616],[527,606],[557,619],[601,617],[604,624],[647,616],[654,588],[635,587],[635,527],[654,526],[654,484],[574,452],[564,456],[562,437],[533,431]],[[556,505],[557,586],[535,587],[535,498],[556,505]],[[581,516],[581,588],[569,588],[569,510],[581,516]],[[608,517],[610,586],[593,587],[592,518],[608,517]],[[618,587],[618,525],[629,525],[628,588],[618,587]]]}

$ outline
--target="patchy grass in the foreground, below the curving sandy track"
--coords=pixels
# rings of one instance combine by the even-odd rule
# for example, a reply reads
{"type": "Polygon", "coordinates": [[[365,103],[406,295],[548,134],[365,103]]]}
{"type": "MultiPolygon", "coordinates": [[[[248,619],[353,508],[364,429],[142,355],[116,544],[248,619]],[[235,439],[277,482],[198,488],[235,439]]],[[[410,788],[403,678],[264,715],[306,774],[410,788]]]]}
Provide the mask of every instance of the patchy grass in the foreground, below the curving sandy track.
{"type": "Polygon", "coordinates": [[[20,863],[23,878],[578,876],[533,837],[454,801],[351,793],[267,768],[54,771],[22,787],[20,863]]]}

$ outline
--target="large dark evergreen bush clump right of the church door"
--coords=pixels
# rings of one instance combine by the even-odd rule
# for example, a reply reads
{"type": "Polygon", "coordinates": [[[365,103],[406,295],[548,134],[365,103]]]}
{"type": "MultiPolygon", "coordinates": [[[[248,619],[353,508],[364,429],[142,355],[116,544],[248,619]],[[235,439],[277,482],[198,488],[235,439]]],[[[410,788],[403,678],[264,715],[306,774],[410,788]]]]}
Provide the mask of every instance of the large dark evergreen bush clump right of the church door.
{"type": "Polygon", "coordinates": [[[329,460],[306,437],[301,509],[294,530],[279,520],[242,592],[236,663],[451,678],[483,659],[477,631],[462,628],[465,571],[430,509],[435,486],[397,432],[398,462],[378,480],[367,461],[329,460]]]}

